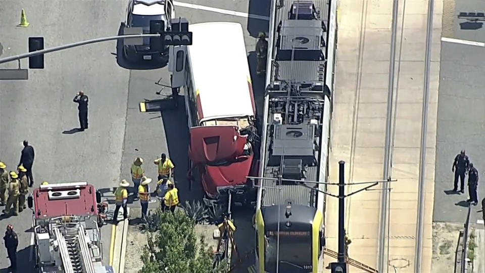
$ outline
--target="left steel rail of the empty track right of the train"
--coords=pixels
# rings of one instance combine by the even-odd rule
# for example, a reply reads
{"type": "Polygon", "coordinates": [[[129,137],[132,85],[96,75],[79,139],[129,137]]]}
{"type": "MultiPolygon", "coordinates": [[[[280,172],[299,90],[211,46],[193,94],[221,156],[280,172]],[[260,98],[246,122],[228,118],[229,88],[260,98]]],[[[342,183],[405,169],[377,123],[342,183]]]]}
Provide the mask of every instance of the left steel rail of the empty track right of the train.
{"type": "MultiPolygon", "coordinates": [[[[396,32],[398,27],[398,9],[399,1],[393,1],[393,21],[392,21],[392,32],[391,32],[391,55],[389,58],[389,83],[387,88],[389,92],[387,93],[387,115],[386,115],[386,126],[385,126],[385,146],[384,146],[384,164],[383,164],[383,174],[382,179],[387,180],[390,176],[391,169],[391,142],[392,142],[392,127],[393,127],[393,101],[394,101],[394,68],[396,64],[396,32]]],[[[382,191],[380,196],[380,217],[379,217],[379,238],[378,238],[378,248],[377,248],[377,270],[379,272],[387,272],[387,262],[384,262],[385,257],[385,238],[386,238],[386,226],[389,225],[387,222],[387,203],[389,203],[389,191],[387,189],[390,187],[389,183],[382,184],[382,191]]]]}

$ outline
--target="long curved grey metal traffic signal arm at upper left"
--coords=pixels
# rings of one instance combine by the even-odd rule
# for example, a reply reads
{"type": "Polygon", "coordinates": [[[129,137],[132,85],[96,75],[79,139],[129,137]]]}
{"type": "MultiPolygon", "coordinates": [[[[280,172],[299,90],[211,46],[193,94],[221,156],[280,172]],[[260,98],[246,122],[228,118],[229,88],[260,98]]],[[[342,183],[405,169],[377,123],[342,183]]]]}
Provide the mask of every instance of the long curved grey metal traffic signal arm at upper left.
{"type": "Polygon", "coordinates": [[[65,50],[65,49],[72,49],[72,48],[80,47],[81,45],[86,45],[86,44],[90,44],[90,43],[98,43],[98,42],[111,41],[111,40],[117,40],[117,39],[126,39],[126,38],[143,38],[143,37],[160,37],[160,34],[119,35],[119,36],[95,38],[95,39],[90,39],[90,40],[85,40],[85,41],[78,41],[78,42],[59,45],[58,47],[54,47],[54,48],[50,48],[50,49],[44,49],[44,50],[39,50],[39,51],[24,53],[24,54],[20,54],[20,55],[16,55],[16,56],[10,56],[10,57],[6,57],[6,58],[2,58],[2,59],[0,59],[0,64],[16,61],[16,60],[20,60],[20,59],[25,59],[25,58],[29,58],[29,57],[33,57],[33,56],[37,56],[37,55],[41,55],[41,54],[61,51],[61,50],[65,50]]]}

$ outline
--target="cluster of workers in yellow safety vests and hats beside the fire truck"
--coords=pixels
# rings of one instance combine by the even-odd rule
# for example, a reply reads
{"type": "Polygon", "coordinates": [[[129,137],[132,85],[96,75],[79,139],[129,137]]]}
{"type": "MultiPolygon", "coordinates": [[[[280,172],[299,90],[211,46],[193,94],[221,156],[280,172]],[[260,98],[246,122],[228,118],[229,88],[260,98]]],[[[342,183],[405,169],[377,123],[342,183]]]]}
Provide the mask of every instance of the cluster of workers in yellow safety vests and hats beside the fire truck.
{"type": "MultiPolygon", "coordinates": [[[[178,190],[174,183],[169,180],[174,176],[175,165],[167,158],[166,154],[162,154],[160,158],[157,158],[153,162],[158,167],[158,182],[154,192],[161,200],[162,210],[170,210],[172,213],[175,211],[175,207],[179,204],[178,190]]],[[[141,205],[141,219],[147,221],[148,204],[150,203],[152,192],[150,191],[150,183],[152,178],[145,175],[142,167],[143,159],[137,157],[131,165],[131,181],[133,182],[133,200],[139,199],[141,205]]],[[[115,204],[113,221],[118,222],[118,213],[120,208],[123,208],[123,219],[128,217],[127,202],[128,202],[128,189],[130,184],[126,179],[121,180],[119,187],[115,191],[115,204]]]]}

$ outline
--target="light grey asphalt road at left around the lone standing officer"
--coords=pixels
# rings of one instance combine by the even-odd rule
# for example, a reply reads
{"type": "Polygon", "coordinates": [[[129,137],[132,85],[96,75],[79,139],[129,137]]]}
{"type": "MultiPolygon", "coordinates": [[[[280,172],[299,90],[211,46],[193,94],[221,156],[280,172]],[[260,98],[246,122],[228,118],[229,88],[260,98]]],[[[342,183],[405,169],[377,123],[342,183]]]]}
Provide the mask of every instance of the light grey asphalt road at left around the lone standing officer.
{"type": "MultiPolygon", "coordinates": [[[[124,1],[2,1],[0,43],[7,57],[28,52],[27,37],[43,36],[44,47],[116,34],[125,13],[124,1]],[[21,9],[30,26],[16,27],[21,9]],[[108,16],[109,15],[109,16],[108,16]]],[[[125,131],[129,71],[120,68],[116,43],[105,42],[45,55],[45,69],[30,70],[29,80],[0,82],[0,158],[15,170],[26,139],[35,149],[35,186],[87,181],[96,188],[117,185],[125,131]],[[89,129],[79,127],[74,95],[89,96],[89,129]]],[[[16,68],[17,63],[3,67],[16,68]]],[[[27,60],[22,61],[27,68],[27,60]]],[[[13,224],[19,236],[20,272],[32,272],[31,211],[2,218],[0,228],[13,224]]],[[[111,229],[103,228],[105,258],[111,229]]],[[[10,265],[3,240],[0,268],[10,265]]],[[[109,258],[109,257],[108,257],[109,258]]],[[[107,260],[107,259],[105,259],[107,260]]]]}

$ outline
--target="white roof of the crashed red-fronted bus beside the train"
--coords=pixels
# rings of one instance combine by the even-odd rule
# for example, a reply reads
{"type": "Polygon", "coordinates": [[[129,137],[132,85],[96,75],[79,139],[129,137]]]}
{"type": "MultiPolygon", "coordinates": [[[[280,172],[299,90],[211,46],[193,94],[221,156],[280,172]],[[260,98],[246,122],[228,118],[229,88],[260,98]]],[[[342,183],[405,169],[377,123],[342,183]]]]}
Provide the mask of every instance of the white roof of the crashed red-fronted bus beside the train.
{"type": "Polygon", "coordinates": [[[193,43],[188,46],[188,55],[201,121],[254,116],[243,27],[211,22],[190,25],[189,30],[193,43]]]}

